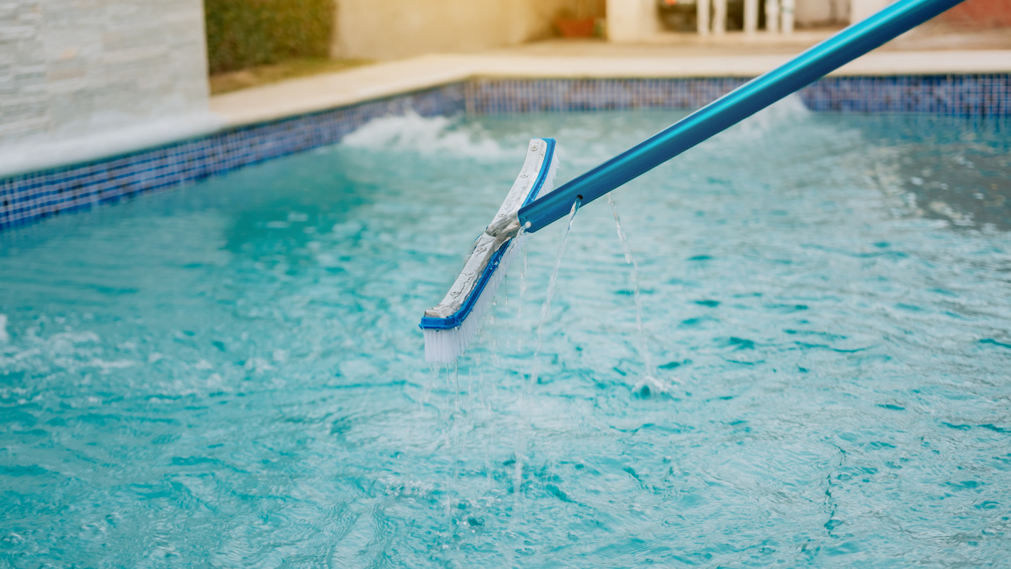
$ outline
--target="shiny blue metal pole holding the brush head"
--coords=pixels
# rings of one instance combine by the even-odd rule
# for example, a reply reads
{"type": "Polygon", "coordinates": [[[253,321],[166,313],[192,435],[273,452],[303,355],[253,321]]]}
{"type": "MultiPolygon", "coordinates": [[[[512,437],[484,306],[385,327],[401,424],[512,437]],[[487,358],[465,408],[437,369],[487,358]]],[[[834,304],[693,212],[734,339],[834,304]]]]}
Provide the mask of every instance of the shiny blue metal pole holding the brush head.
{"type": "Polygon", "coordinates": [[[520,208],[520,224],[532,233],[568,215],[577,198],[593,201],[960,2],[899,0],[520,208]]]}

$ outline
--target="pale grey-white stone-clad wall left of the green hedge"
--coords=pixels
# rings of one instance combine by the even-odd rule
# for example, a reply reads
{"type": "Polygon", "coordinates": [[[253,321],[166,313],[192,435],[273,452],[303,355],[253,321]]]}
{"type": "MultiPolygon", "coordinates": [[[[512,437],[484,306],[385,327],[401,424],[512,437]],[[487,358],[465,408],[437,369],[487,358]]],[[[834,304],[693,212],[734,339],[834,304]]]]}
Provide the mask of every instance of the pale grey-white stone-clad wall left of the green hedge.
{"type": "Polygon", "coordinates": [[[206,113],[206,61],[201,0],[0,2],[0,149],[206,113]]]}

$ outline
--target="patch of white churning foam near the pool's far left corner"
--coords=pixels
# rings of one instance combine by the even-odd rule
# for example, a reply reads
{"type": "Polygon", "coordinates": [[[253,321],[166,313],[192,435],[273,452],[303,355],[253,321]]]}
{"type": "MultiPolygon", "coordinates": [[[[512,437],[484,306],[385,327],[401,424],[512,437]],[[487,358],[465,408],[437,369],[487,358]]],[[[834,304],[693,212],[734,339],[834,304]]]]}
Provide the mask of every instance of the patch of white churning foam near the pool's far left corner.
{"type": "Polygon", "coordinates": [[[425,117],[408,110],[384,116],[348,134],[342,145],[370,150],[451,153],[469,158],[501,158],[508,153],[476,125],[461,125],[446,116],[425,117]]]}

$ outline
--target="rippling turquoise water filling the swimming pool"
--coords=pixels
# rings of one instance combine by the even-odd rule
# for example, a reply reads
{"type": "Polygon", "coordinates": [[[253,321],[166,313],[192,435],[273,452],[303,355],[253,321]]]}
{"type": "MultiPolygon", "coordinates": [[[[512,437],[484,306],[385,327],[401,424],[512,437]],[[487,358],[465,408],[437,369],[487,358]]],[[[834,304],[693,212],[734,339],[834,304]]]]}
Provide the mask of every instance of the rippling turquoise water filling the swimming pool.
{"type": "Polygon", "coordinates": [[[417,327],[522,164],[683,113],[374,123],[0,234],[0,567],[1000,567],[1006,122],[788,101],[417,327]],[[524,291],[524,289],[526,289],[524,291]]]}

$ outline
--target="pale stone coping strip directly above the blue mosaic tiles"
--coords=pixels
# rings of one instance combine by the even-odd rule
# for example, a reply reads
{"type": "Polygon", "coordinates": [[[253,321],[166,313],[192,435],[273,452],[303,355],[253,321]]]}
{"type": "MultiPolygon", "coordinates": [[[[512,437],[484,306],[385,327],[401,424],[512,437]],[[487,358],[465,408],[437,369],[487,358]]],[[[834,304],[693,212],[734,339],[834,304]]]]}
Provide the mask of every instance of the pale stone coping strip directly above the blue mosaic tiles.
{"type": "MultiPolygon", "coordinates": [[[[430,55],[216,95],[210,109],[223,127],[243,126],[474,79],[753,78],[793,57],[430,55]]],[[[1011,51],[872,52],[827,77],[998,73],[1011,73],[1011,51]]]]}

